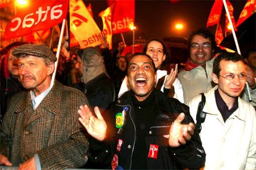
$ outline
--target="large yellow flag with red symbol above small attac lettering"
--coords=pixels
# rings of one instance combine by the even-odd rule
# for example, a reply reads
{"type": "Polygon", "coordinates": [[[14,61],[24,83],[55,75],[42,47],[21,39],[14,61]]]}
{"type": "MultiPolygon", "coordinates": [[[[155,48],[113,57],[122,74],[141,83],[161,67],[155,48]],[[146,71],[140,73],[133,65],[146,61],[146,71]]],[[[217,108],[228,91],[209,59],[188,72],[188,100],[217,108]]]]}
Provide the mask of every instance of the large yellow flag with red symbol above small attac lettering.
{"type": "Polygon", "coordinates": [[[82,49],[102,44],[100,28],[96,25],[83,1],[70,0],[70,31],[82,49]]]}

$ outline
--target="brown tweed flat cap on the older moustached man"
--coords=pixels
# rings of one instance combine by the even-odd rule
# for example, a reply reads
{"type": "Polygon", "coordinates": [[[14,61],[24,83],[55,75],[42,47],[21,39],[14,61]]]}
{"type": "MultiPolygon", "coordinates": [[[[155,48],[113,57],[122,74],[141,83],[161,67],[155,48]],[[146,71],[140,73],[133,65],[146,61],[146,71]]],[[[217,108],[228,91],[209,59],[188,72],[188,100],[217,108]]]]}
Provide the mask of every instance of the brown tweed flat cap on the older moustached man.
{"type": "Polygon", "coordinates": [[[51,62],[56,62],[57,58],[45,44],[24,44],[19,47],[15,47],[12,50],[12,55],[19,58],[20,55],[27,54],[36,57],[41,57],[44,59],[49,59],[51,62]]]}

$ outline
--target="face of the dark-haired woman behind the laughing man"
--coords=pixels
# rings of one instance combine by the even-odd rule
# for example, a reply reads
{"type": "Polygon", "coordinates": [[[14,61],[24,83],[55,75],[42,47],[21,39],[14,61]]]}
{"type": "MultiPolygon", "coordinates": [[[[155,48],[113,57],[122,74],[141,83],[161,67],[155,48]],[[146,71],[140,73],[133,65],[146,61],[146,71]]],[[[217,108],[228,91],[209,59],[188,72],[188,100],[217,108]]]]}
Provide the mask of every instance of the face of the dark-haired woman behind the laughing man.
{"type": "Polygon", "coordinates": [[[151,57],[151,59],[155,63],[156,68],[161,67],[166,57],[163,51],[163,46],[158,41],[151,41],[150,43],[148,43],[146,54],[151,57]]]}

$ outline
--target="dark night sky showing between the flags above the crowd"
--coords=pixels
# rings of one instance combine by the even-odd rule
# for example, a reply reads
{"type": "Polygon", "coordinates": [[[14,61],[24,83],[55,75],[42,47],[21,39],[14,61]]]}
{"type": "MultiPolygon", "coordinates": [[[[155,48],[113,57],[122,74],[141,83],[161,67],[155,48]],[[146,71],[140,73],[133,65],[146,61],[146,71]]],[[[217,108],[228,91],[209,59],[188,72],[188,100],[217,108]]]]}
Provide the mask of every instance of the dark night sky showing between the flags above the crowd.
{"type": "MultiPolygon", "coordinates": [[[[92,4],[93,17],[102,30],[102,21],[98,17],[98,13],[105,10],[107,7],[106,1],[84,1],[86,6],[92,4]]],[[[162,1],[135,1],[135,26],[137,30],[135,36],[138,39],[150,38],[166,38],[169,36],[182,36],[188,38],[193,30],[197,30],[202,26],[207,25],[208,15],[214,1],[184,1],[176,0],[175,2],[162,1]],[[178,33],[174,30],[174,23],[181,20],[185,24],[183,31],[178,33]]],[[[230,1],[234,7],[234,17],[237,21],[246,1],[236,0],[230,1]]],[[[221,15],[221,23],[224,30],[224,6],[223,14],[221,15]]],[[[215,33],[216,26],[209,28],[215,33]]],[[[132,39],[131,33],[124,33],[124,38],[127,42],[132,39]]],[[[113,41],[121,41],[121,36],[115,34],[113,41]]]]}

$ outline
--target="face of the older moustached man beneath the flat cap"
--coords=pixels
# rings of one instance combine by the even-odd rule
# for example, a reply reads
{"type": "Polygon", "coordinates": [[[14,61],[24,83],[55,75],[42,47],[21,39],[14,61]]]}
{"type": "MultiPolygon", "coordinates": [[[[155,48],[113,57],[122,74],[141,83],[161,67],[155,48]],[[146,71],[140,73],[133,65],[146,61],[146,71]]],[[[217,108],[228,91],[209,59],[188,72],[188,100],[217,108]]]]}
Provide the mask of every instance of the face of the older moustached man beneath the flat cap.
{"type": "Polygon", "coordinates": [[[54,64],[46,65],[40,57],[28,55],[19,59],[20,83],[25,89],[31,89],[35,95],[41,94],[51,84],[54,64]]]}

